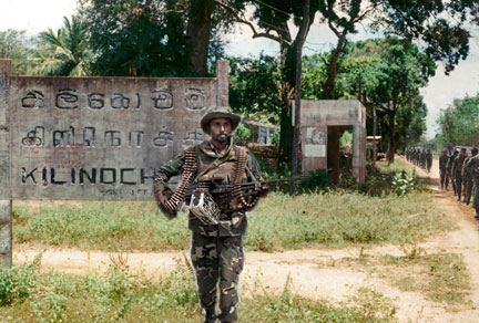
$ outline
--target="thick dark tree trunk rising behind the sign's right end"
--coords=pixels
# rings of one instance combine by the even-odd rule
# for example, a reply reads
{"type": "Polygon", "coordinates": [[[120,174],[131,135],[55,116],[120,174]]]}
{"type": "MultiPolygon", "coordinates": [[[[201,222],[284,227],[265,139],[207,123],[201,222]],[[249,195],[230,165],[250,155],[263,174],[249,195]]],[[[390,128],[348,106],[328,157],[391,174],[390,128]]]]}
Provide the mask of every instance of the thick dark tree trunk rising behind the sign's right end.
{"type": "Polygon", "coordinates": [[[214,0],[192,0],[186,35],[188,37],[188,62],[197,76],[207,74],[207,54],[214,0]]]}

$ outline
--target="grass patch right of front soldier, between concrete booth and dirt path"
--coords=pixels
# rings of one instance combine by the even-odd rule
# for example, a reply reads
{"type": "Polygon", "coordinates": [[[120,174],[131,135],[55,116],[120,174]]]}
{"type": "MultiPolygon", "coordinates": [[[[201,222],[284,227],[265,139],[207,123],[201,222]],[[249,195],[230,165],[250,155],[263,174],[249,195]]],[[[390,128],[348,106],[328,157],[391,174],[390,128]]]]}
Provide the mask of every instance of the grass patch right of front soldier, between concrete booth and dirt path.
{"type": "Polygon", "coordinates": [[[344,191],[273,195],[252,215],[246,243],[266,251],[317,243],[404,243],[444,229],[445,221],[426,192],[402,198],[344,191]]]}

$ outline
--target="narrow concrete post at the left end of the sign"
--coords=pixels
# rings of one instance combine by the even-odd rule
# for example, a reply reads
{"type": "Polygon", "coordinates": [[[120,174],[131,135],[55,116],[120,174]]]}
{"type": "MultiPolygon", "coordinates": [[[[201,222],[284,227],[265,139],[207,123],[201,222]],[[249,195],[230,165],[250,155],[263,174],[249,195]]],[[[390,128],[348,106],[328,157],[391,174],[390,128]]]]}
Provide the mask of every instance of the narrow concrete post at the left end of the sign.
{"type": "Polygon", "coordinates": [[[10,195],[10,74],[11,61],[0,59],[0,265],[12,264],[10,195]]]}

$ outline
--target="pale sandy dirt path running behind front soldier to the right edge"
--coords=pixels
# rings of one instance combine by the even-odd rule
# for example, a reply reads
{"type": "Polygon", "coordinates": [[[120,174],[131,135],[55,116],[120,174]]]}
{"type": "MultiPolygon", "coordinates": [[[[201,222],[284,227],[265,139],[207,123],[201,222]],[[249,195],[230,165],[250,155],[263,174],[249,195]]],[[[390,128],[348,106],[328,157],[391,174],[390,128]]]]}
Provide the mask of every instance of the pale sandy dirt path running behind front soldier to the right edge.
{"type": "MultiPolygon", "coordinates": [[[[431,174],[421,169],[418,174],[438,178],[437,163],[431,174]]],[[[389,282],[376,278],[358,268],[345,268],[336,263],[346,257],[358,257],[357,248],[350,249],[302,249],[275,253],[246,252],[246,264],[243,274],[244,293],[281,292],[287,281],[293,292],[314,299],[344,301],[358,288],[366,286],[381,292],[394,300],[399,308],[397,316],[400,322],[478,322],[479,317],[479,235],[478,222],[473,220],[473,211],[455,201],[451,192],[435,189],[435,201],[457,222],[458,229],[440,237],[435,237],[420,244],[429,253],[460,253],[467,263],[472,279],[472,305],[466,310],[450,311],[444,304],[427,301],[424,295],[415,292],[401,292],[389,282]]],[[[20,246],[16,249],[14,261],[31,261],[40,251],[39,248],[20,246]]],[[[368,254],[404,254],[398,247],[386,246],[368,249],[368,254]]],[[[60,271],[68,273],[104,272],[112,262],[128,262],[133,272],[149,275],[165,274],[176,263],[184,262],[187,252],[165,253],[106,253],[98,251],[80,251],[50,248],[42,254],[42,271],[60,271]]]]}

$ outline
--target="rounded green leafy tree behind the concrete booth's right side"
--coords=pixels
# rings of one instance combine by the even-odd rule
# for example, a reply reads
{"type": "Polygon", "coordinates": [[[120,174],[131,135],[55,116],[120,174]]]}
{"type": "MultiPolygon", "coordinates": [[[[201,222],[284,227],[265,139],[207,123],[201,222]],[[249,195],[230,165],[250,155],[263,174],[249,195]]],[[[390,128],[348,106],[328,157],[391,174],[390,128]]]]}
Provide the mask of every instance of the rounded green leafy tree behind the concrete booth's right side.
{"type": "Polygon", "coordinates": [[[421,127],[419,115],[425,104],[419,88],[435,74],[436,64],[408,40],[397,38],[357,42],[348,64],[351,72],[346,77],[350,94],[369,110],[376,107],[384,112],[388,160],[393,162],[396,146],[405,138],[410,123],[415,121],[421,127]]]}

